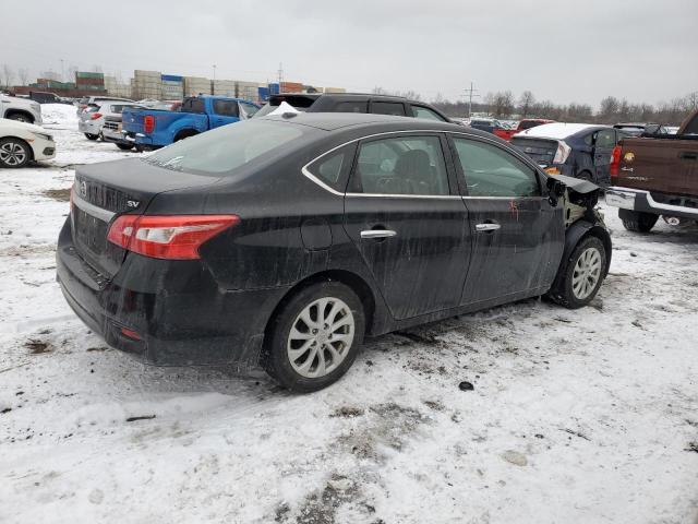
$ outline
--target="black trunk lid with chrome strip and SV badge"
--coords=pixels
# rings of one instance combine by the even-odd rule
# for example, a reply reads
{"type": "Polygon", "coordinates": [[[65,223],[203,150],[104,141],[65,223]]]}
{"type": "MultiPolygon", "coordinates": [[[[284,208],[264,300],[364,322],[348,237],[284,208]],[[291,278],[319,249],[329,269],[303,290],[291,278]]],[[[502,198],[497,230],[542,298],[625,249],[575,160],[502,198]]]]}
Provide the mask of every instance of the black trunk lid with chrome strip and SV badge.
{"type": "Polygon", "coordinates": [[[217,180],[218,177],[165,169],[140,158],[79,167],[71,210],[77,253],[100,275],[111,278],[127,255],[124,249],[107,240],[117,216],[143,214],[163,192],[201,188],[217,180]]]}

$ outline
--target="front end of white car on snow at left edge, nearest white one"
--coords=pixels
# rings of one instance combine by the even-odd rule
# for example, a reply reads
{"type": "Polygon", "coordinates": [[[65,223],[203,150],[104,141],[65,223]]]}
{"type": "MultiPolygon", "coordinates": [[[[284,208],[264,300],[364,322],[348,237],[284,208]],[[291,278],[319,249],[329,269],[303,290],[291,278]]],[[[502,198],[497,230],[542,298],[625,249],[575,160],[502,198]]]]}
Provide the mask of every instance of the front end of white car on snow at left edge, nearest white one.
{"type": "Polygon", "coordinates": [[[32,160],[55,156],[56,142],[46,129],[0,118],[0,167],[24,167],[32,160]]]}

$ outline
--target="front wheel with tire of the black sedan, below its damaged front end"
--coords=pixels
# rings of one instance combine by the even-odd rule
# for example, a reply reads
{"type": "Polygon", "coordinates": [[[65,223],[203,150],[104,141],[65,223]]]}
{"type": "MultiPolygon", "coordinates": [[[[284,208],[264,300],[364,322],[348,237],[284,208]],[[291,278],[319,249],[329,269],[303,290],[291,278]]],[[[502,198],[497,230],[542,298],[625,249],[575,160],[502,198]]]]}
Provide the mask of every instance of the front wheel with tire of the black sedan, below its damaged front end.
{"type": "Polygon", "coordinates": [[[568,309],[587,306],[597,296],[606,272],[606,250],[597,237],[583,237],[555,278],[547,296],[568,309]]]}

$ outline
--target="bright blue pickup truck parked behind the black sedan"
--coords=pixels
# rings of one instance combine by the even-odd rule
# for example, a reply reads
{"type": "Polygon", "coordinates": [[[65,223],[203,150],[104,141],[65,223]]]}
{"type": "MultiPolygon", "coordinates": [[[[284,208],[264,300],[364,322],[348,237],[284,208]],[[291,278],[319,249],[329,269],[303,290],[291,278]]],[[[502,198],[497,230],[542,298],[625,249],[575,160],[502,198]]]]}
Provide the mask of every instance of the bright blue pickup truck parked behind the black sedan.
{"type": "Polygon", "coordinates": [[[209,129],[245,120],[260,106],[240,98],[192,96],[184,98],[179,111],[124,109],[122,133],[136,150],[155,150],[209,129]]]}

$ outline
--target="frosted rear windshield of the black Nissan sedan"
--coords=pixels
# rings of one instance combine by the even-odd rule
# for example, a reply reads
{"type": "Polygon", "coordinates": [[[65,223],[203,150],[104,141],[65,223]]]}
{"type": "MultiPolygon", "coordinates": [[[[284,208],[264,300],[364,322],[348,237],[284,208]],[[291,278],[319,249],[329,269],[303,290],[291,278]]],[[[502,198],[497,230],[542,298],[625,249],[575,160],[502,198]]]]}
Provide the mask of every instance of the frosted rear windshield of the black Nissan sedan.
{"type": "Polygon", "coordinates": [[[177,142],[145,162],[178,171],[222,175],[263,155],[280,153],[285,145],[313,131],[288,122],[246,120],[177,142]]]}

